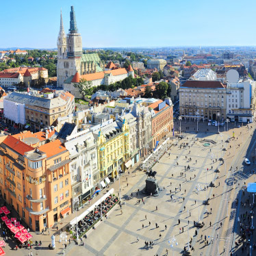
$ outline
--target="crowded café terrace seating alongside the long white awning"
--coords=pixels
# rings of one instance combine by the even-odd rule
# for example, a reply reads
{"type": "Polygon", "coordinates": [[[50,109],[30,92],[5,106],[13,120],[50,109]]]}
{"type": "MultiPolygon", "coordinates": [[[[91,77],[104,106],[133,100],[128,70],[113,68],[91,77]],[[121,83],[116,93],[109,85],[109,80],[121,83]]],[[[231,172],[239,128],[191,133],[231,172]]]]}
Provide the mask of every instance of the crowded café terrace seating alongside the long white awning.
{"type": "MultiPolygon", "coordinates": [[[[89,214],[87,214],[82,220],[79,220],[77,226],[73,227],[73,232],[78,233],[79,237],[86,233],[88,229],[91,227],[94,228],[94,224],[101,219],[101,211],[102,215],[107,218],[107,212],[112,209],[112,207],[118,202],[117,196],[107,196],[107,198],[102,201],[97,207],[94,208],[89,214]],[[78,232],[77,232],[78,230],[78,232]]],[[[86,237],[86,234],[84,235],[86,237]]]]}

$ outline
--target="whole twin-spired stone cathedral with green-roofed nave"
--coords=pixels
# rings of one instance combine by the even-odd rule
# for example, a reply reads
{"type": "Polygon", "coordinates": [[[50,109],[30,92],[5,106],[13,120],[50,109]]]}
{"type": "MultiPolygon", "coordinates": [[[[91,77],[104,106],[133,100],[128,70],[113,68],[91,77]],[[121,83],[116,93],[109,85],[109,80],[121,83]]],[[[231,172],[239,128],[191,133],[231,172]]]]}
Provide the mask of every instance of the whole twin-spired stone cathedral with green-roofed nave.
{"type": "Polygon", "coordinates": [[[86,75],[104,71],[105,64],[97,53],[83,54],[81,34],[78,33],[74,7],[71,6],[69,33],[64,31],[62,13],[60,32],[57,37],[57,86],[63,87],[64,81],[75,73],[86,75]]]}

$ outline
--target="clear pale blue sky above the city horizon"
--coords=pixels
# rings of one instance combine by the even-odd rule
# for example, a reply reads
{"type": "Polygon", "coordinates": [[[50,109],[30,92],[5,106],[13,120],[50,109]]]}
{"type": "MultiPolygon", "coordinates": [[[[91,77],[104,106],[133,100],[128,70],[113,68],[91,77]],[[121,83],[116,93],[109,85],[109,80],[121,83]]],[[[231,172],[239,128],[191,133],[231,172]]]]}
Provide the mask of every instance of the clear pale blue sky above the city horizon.
{"type": "Polygon", "coordinates": [[[56,47],[75,7],[83,47],[255,45],[255,0],[1,1],[4,47],[56,47]]]}

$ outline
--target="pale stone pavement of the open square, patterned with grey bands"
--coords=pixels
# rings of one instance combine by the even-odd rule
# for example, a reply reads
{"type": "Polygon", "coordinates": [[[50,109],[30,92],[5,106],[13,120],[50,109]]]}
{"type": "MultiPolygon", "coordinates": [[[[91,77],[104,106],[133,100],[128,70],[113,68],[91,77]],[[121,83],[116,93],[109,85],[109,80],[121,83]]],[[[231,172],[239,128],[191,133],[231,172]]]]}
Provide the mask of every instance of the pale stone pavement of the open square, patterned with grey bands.
{"type": "MultiPolygon", "coordinates": [[[[175,127],[179,128],[179,123],[175,125],[175,127]]],[[[227,216],[227,205],[229,205],[229,212],[231,211],[231,199],[235,198],[235,192],[233,191],[238,192],[238,189],[232,190],[233,177],[229,168],[231,165],[241,165],[240,163],[238,164],[238,158],[241,162],[244,153],[241,154],[240,150],[242,152],[246,151],[251,138],[248,136],[246,127],[235,128],[235,136],[240,131],[242,131],[242,135],[238,136],[238,140],[231,140],[231,142],[225,142],[227,138],[232,136],[233,127],[230,124],[229,132],[224,132],[224,127],[220,127],[223,135],[217,134],[218,127],[208,127],[207,123],[199,123],[199,133],[194,132],[195,127],[196,123],[185,123],[183,121],[182,129],[187,131],[185,133],[187,138],[181,140],[178,146],[172,146],[159,159],[159,163],[153,167],[153,170],[157,171],[156,177],[162,189],[159,196],[145,196],[140,192],[137,196],[138,189],[141,191],[144,188],[146,175],[144,172],[136,170],[138,164],[133,166],[130,170],[130,175],[125,173],[120,177],[121,196],[126,198],[127,195],[130,196],[133,193],[132,198],[129,201],[125,201],[125,205],[123,205],[123,214],[121,214],[117,205],[112,214],[109,215],[109,218],[104,219],[96,230],[88,232],[88,239],[84,240],[84,246],[80,244],[77,246],[71,241],[71,245],[68,244],[66,248],[66,255],[164,255],[166,249],[170,253],[173,250],[174,255],[180,255],[183,247],[188,246],[188,241],[191,238],[192,246],[195,250],[192,251],[192,255],[200,255],[201,253],[203,253],[202,255],[217,255],[216,240],[213,240],[215,244],[205,246],[204,242],[201,241],[201,235],[203,237],[204,235],[214,237],[216,233],[219,233],[220,237],[223,237],[225,236],[225,231],[229,230],[231,221],[228,218],[223,220],[222,218],[225,215],[227,216]],[[190,128],[186,130],[185,127],[190,128]],[[197,138],[199,138],[199,141],[197,138]],[[200,142],[203,139],[213,140],[216,144],[210,143],[209,147],[203,146],[203,143],[200,142]],[[188,146],[180,149],[181,143],[188,143],[188,146]],[[241,146],[238,147],[238,144],[241,144],[241,146]],[[231,149],[229,149],[230,145],[231,149]],[[222,151],[222,147],[226,147],[227,151],[222,151]],[[171,153],[170,156],[169,152],[171,153]],[[190,157],[192,161],[189,161],[190,157]],[[225,158],[225,164],[220,165],[221,162],[218,161],[220,157],[225,158]],[[213,160],[214,163],[212,162],[213,160]],[[233,161],[237,161],[237,163],[233,161]],[[190,165],[190,170],[185,170],[185,166],[188,167],[188,165],[190,165]],[[208,171],[207,168],[209,169],[208,171]],[[220,169],[219,173],[214,172],[217,168],[220,169]],[[128,179],[128,186],[126,178],[128,179]],[[215,181],[216,188],[207,189],[207,185],[212,180],[215,181]],[[220,185],[218,185],[218,182],[220,182],[220,185]],[[196,188],[199,189],[199,194],[196,194],[196,188]],[[230,191],[233,194],[229,194],[230,191]],[[170,196],[172,196],[172,199],[170,196]],[[210,205],[202,205],[203,200],[207,198],[211,199],[210,205]],[[144,203],[142,203],[142,199],[144,199],[144,203]],[[140,200],[140,203],[138,203],[138,200],[140,200]],[[206,210],[209,212],[208,217],[205,214],[206,210]],[[196,229],[194,220],[205,222],[205,227],[196,229]],[[209,227],[209,222],[212,222],[212,227],[209,227]],[[222,228],[220,228],[220,222],[223,223],[222,228]],[[159,227],[156,227],[155,223],[159,227]],[[197,231],[197,235],[195,235],[195,231],[197,231]],[[175,236],[178,244],[174,243],[171,248],[170,244],[173,236],[175,236]],[[154,245],[147,247],[144,243],[145,241],[152,241],[154,245]]],[[[252,132],[253,130],[251,130],[252,132]]],[[[239,179],[247,179],[248,177],[239,172],[235,173],[237,185],[239,179]]],[[[119,190],[118,181],[112,184],[110,188],[114,188],[117,194],[119,190]]],[[[94,201],[98,199],[94,199],[94,201]]],[[[77,214],[81,214],[86,208],[80,209],[77,214]]],[[[75,218],[75,214],[68,216],[62,223],[59,223],[59,230],[73,218],[75,218]]],[[[51,235],[55,231],[55,229],[51,229],[51,235]]],[[[38,246],[40,248],[32,249],[34,255],[42,255],[45,249],[47,249],[47,253],[52,255],[63,253],[62,244],[58,242],[59,235],[56,235],[55,238],[55,251],[48,250],[47,246],[51,242],[49,235],[35,233],[32,235],[34,235],[33,241],[42,240],[43,244],[41,247],[38,246]]],[[[207,240],[210,242],[211,239],[208,238],[207,240]]],[[[220,241],[219,244],[219,251],[222,252],[226,243],[220,241]]],[[[5,252],[8,252],[8,255],[14,254],[15,251],[8,251],[9,248],[7,249],[7,247],[5,247],[5,252]]],[[[29,250],[27,249],[20,249],[19,255],[27,255],[28,252],[29,250]]]]}

